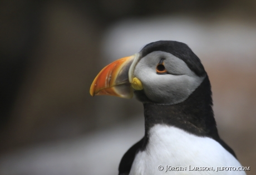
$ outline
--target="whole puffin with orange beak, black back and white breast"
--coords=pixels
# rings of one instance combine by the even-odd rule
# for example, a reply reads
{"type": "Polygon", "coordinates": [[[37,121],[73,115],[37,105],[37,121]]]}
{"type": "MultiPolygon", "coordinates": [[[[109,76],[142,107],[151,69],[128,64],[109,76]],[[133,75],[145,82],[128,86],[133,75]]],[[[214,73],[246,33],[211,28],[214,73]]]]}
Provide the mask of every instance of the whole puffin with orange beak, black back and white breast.
{"type": "Polygon", "coordinates": [[[122,157],[119,175],[245,174],[218,134],[208,74],[185,43],[152,42],[117,59],[90,94],[135,96],[144,106],[145,135],[122,157]]]}

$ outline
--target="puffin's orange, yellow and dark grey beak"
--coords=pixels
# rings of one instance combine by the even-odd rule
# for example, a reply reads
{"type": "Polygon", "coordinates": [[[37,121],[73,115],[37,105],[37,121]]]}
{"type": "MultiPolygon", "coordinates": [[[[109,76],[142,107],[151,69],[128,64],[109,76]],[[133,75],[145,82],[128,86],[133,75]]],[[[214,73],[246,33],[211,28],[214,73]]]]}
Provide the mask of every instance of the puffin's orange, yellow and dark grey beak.
{"type": "Polygon", "coordinates": [[[136,54],[121,58],[104,67],[91,84],[91,96],[109,95],[132,98],[129,69],[135,57],[136,54]]]}

